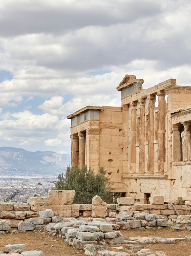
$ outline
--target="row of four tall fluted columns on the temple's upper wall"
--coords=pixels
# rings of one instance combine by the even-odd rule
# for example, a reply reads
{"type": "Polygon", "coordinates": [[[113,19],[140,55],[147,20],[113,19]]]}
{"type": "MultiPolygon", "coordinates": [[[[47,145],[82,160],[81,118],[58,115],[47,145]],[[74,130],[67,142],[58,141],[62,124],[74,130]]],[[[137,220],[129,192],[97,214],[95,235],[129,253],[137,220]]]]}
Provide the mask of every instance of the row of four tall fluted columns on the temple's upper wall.
{"type": "MultiPolygon", "coordinates": [[[[164,171],[165,161],[165,92],[160,91],[157,93],[159,105],[157,115],[157,138],[158,138],[158,173],[164,171]]],[[[154,110],[155,110],[156,95],[148,95],[146,98],[141,98],[139,102],[139,127],[137,128],[137,102],[130,103],[131,107],[131,147],[130,147],[130,172],[136,172],[136,131],[139,129],[139,172],[145,172],[145,142],[148,142],[148,162],[147,172],[154,172],[154,110]],[[147,131],[145,119],[145,100],[148,100],[148,120],[147,131]]]]}

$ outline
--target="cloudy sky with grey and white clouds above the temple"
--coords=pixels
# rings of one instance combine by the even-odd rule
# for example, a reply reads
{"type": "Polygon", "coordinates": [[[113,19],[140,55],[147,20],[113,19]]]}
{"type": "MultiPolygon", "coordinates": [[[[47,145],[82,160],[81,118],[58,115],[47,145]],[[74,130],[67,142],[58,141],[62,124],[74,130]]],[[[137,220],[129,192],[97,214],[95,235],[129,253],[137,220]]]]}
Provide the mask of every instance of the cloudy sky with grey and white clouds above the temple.
{"type": "Polygon", "coordinates": [[[190,0],[0,0],[0,146],[70,154],[67,115],[144,88],[191,86],[190,0]]]}

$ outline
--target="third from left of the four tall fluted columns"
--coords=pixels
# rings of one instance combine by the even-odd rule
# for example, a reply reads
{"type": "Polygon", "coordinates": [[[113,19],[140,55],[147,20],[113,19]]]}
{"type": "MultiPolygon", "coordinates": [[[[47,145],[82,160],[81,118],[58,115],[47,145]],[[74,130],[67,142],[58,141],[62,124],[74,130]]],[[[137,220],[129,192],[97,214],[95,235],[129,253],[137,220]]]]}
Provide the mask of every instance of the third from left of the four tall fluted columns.
{"type": "Polygon", "coordinates": [[[154,109],[155,95],[148,95],[148,165],[147,172],[154,172],[154,109]]]}

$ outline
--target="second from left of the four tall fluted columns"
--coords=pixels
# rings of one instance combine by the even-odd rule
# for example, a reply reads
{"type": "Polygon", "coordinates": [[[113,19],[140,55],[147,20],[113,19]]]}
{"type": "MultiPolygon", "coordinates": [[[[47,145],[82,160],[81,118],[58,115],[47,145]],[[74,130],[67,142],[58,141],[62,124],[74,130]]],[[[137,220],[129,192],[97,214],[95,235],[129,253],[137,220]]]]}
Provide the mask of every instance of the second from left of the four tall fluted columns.
{"type": "Polygon", "coordinates": [[[140,128],[139,128],[139,172],[145,172],[145,99],[139,99],[140,128]]]}

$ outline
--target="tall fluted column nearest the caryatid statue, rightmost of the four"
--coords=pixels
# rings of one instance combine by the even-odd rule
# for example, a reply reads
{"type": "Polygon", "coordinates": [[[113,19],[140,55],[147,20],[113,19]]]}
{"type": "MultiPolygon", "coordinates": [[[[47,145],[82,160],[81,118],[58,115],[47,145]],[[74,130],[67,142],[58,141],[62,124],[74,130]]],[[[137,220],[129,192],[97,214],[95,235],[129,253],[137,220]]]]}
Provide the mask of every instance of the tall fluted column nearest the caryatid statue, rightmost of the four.
{"type": "Polygon", "coordinates": [[[158,172],[164,172],[165,160],[165,92],[160,91],[157,93],[159,106],[158,106],[158,172]]]}

